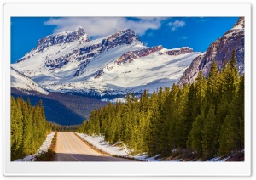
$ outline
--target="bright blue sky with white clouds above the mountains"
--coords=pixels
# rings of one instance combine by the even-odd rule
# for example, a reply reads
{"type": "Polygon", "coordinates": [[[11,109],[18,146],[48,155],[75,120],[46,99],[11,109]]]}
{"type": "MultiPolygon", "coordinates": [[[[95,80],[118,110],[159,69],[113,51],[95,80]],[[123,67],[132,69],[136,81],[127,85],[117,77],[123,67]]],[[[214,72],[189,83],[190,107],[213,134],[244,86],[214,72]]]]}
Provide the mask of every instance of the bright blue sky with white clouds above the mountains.
{"type": "Polygon", "coordinates": [[[148,47],[189,46],[204,52],[236,23],[238,17],[13,17],[11,19],[11,63],[49,34],[82,26],[91,39],[125,28],[134,30],[148,47]]]}

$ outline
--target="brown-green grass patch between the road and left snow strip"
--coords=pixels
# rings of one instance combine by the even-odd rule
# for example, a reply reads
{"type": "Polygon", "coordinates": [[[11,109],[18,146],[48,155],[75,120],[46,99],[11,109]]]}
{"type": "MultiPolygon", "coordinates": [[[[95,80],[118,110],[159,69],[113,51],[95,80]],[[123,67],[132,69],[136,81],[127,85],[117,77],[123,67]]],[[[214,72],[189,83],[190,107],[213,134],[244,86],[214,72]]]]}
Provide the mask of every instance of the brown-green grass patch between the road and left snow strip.
{"type": "Polygon", "coordinates": [[[36,161],[54,161],[55,155],[56,155],[55,153],[56,141],[57,141],[57,132],[55,132],[55,136],[51,141],[48,151],[44,154],[37,155],[36,161]]]}

